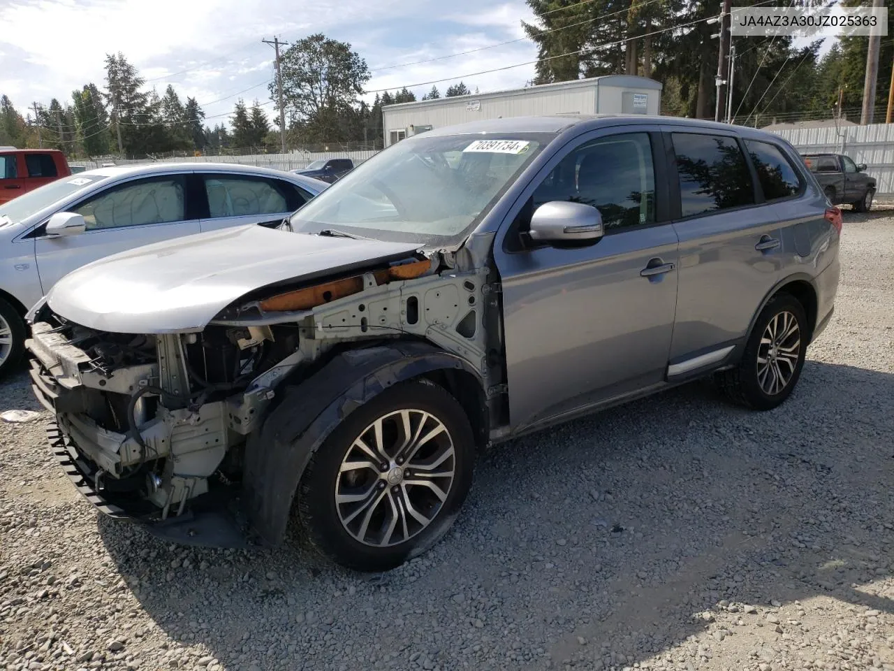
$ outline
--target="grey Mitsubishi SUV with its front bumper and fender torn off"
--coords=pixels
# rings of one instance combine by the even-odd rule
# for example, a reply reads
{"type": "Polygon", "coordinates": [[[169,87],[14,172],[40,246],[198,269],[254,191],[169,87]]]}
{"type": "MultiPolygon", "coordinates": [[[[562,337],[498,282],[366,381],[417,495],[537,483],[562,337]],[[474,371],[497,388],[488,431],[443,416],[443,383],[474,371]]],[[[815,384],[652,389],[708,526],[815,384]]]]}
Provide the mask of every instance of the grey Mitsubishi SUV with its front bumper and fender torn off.
{"type": "Polygon", "coordinates": [[[643,116],[401,141],[278,229],[160,242],[30,313],[63,469],[186,543],[384,570],[456,518],[479,449],[713,376],[769,410],[831,318],[840,212],[789,144],[643,116]]]}

